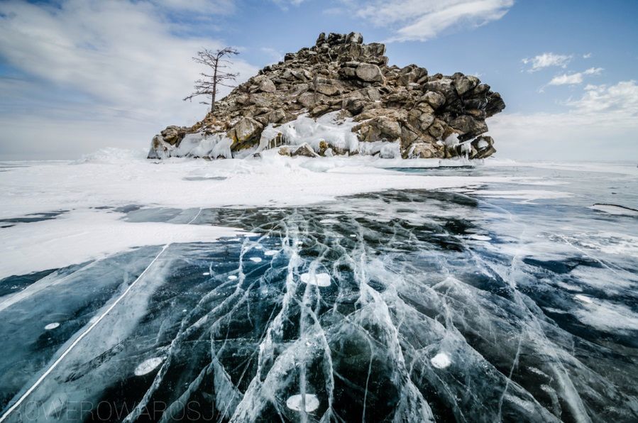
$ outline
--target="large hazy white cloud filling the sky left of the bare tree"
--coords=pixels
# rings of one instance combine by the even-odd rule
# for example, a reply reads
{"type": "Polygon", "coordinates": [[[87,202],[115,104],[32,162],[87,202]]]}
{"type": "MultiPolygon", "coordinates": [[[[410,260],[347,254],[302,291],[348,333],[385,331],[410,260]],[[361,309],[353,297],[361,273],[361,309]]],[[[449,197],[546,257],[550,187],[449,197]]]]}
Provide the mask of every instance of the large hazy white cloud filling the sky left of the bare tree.
{"type": "MultiPolygon", "coordinates": [[[[232,1],[205,3],[219,6],[232,1]]],[[[168,124],[201,119],[205,106],[182,101],[202,70],[191,57],[197,50],[219,48],[222,43],[175,35],[180,28],[165,15],[171,13],[165,7],[172,4],[179,6],[174,0],[67,0],[55,6],[0,2],[0,56],[27,75],[11,88],[13,100],[0,95],[0,108],[10,109],[9,101],[25,99],[36,107],[31,111],[23,107],[23,116],[17,116],[19,111],[11,112],[15,116],[4,113],[3,120],[10,126],[38,127],[44,122],[43,128],[51,131],[40,137],[20,128],[3,131],[0,155],[9,143],[33,151],[46,144],[76,154],[89,152],[89,143],[70,136],[76,125],[86,129],[83,135],[88,133],[87,121],[110,127],[111,145],[124,146],[123,140],[131,137],[121,131],[133,128],[131,120],[145,131],[155,127],[156,132],[168,124]],[[16,94],[20,89],[22,94],[16,94]],[[60,92],[59,98],[50,99],[47,89],[60,92]],[[9,133],[14,135],[9,138],[9,133]]],[[[242,79],[256,72],[243,60],[235,60],[235,70],[242,79]]],[[[6,83],[0,89],[6,92],[6,83]]],[[[152,136],[153,132],[147,133],[135,146],[148,145],[152,136]]]]}

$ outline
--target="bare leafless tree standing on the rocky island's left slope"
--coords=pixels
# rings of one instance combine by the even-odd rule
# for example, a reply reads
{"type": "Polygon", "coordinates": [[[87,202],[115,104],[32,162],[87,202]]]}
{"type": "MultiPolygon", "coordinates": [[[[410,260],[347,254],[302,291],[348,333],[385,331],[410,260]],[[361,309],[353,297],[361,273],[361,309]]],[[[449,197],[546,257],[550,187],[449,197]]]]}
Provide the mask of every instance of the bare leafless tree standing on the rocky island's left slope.
{"type": "Polygon", "coordinates": [[[184,97],[184,101],[192,100],[193,97],[206,95],[211,96],[211,102],[200,101],[201,104],[210,104],[211,111],[215,111],[215,97],[217,95],[219,87],[233,87],[229,84],[229,81],[235,81],[238,73],[231,73],[226,71],[232,62],[224,57],[231,57],[238,55],[239,52],[231,47],[222,48],[220,50],[207,50],[204,48],[202,51],[197,52],[197,57],[193,57],[193,60],[202,65],[206,65],[211,68],[213,75],[208,75],[205,72],[200,73],[202,79],[197,79],[194,85],[194,92],[187,97],[184,97]]]}

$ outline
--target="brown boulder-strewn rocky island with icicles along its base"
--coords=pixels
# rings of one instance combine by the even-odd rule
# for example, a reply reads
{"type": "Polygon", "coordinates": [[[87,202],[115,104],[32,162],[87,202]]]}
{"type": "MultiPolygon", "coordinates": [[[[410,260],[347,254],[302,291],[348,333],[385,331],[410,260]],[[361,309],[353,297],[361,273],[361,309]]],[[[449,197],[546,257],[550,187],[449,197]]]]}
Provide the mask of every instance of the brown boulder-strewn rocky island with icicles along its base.
{"type": "Polygon", "coordinates": [[[313,47],[287,53],[233,89],[204,120],[165,128],[148,157],[247,157],[286,144],[294,144],[280,152],[286,155],[376,154],[380,148],[365,143],[392,143],[402,158],[485,158],[495,152],[483,135],[485,119],[504,108],[500,94],[477,77],[388,66],[383,44],[363,44],[359,33],[321,33],[313,47]],[[343,130],[358,142],[295,140],[291,131],[277,131],[326,114],[335,131],[347,122],[343,130]]]}

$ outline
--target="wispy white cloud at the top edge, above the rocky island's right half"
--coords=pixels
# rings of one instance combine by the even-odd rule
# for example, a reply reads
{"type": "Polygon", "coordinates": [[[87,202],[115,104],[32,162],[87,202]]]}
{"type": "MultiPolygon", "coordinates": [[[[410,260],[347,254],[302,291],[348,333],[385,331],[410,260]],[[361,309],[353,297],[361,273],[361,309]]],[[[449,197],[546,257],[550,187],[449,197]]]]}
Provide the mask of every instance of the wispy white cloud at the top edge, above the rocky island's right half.
{"type": "Polygon", "coordinates": [[[514,0],[376,0],[346,1],[356,15],[375,26],[390,27],[390,41],[425,41],[443,31],[476,28],[505,16],[514,0]]]}

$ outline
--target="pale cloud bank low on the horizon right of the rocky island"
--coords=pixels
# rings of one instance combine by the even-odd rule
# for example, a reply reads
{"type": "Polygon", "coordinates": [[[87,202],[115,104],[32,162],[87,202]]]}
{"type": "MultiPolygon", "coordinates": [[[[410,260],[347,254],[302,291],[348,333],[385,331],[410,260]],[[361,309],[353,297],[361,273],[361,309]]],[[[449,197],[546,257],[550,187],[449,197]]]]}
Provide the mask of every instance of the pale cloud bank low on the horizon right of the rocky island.
{"type": "Polygon", "coordinates": [[[499,114],[488,122],[501,157],[627,160],[638,157],[638,84],[588,85],[563,113],[499,114]]]}

